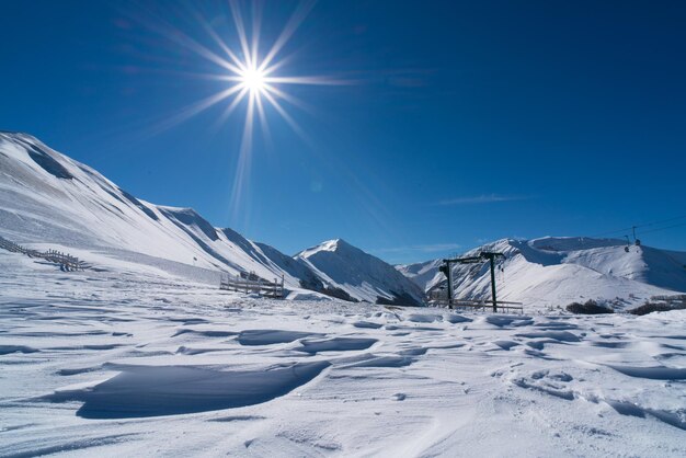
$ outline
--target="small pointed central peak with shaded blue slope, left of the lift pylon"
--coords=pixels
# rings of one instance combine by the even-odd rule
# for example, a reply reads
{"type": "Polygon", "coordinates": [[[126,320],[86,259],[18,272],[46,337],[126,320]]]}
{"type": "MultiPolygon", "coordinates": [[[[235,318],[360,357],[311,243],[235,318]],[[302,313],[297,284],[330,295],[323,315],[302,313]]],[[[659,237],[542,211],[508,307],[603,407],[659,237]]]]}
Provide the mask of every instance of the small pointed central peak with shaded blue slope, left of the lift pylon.
{"type": "Polygon", "coordinates": [[[378,304],[420,305],[422,290],[391,265],[336,239],[296,256],[339,297],[378,304]]]}

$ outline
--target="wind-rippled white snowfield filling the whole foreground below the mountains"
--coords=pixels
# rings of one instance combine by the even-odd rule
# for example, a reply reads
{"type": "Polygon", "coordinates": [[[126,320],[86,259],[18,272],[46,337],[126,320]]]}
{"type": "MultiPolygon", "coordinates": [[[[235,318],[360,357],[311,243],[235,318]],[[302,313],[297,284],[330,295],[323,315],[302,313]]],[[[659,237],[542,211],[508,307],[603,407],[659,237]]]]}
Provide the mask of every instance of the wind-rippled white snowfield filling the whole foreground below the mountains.
{"type": "Polygon", "coordinates": [[[686,456],[685,310],[291,302],[118,267],[0,253],[0,456],[686,456]]]}

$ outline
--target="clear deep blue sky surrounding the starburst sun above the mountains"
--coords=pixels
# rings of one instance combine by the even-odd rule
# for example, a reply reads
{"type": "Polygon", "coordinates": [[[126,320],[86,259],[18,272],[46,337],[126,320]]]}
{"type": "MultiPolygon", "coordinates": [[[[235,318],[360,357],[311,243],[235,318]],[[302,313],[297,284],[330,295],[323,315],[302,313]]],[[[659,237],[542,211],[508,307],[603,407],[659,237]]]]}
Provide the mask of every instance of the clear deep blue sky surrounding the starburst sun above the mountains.
{"type": "MultiPolygon", "coordinates": [[[[264,4],[265,48],[296,5],[264,4]]],[[[158,128],[226,85],[155,31],[220,54],[182,7],[4,0],[0,129],[290,254],[343,238],[410,262],[686,215],[685,2],[320,1],[279,72],[350,84],[288,88],[309,105],[287,106],[308,141],[267,110],[238,217],[244,107],[158,128]]],[[[199,9],[236,47],[226,2],[199,9]]],[[[686,226],[639,234],[686,250],[686,226]]]]}

